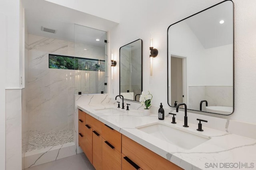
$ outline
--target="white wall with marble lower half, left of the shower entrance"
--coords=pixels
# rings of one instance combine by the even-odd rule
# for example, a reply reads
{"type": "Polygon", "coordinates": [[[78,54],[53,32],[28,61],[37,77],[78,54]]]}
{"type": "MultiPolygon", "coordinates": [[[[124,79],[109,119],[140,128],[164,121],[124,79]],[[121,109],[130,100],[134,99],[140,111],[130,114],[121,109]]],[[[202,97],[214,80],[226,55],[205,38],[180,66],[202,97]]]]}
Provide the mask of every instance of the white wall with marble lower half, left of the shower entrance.
{"type": "MultiPolygon", "coordinates": [[[[4,35],[6,36],[6,55],[2,56],[5,65],[5,72],[2,78],[4,80],[2,82],[5,82],[6,90],[5,95],[3,95],[5,101],[1,101],[1,108],[2,105],[5,105],[5,112],[2,114],[5,114],[6,118],[4,119],[5,123],[3,124],[6,127],[6,132],[5,134],[1,133],[1,139],[6,140],[6,145],[2,145],[3,143],[1,140],[1,147],[6,147],[6,154],[5,158],[1,159],[1,166],[2,161],[5,161],[6,170],[22,169],[21,89],[19,83],[21,66],[20,43],[22,44],[20,30],[22,30],[21,25],[23,24],[21,20],[22,16],[20,15],[22,14],[21,9],[22,6],[20,5],[20,0],[0,1],[0,13],[6,16],[6,24],[3,24],[3,29],[6,30],[4,35]]],[[[4,42],[4,40],[1,40],[1,42],[4,42]]],[[[2,118],[4,117],[1,117],[1,121],[2,118]]]]}

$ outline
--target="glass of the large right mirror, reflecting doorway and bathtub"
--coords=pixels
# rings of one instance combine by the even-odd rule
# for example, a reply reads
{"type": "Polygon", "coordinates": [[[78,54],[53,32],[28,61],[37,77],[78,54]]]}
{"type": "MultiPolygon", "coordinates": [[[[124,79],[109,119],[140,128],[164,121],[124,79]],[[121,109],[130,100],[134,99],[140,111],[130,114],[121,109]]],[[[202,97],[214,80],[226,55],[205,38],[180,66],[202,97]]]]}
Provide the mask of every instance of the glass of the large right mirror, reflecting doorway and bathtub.
{"type": "Polygon", "coordinates": [[[234,110],[233,46],[230,0],[170,25],[168,104],[174,107],[178,101],[190,110],[230,115],[234,110]]]}

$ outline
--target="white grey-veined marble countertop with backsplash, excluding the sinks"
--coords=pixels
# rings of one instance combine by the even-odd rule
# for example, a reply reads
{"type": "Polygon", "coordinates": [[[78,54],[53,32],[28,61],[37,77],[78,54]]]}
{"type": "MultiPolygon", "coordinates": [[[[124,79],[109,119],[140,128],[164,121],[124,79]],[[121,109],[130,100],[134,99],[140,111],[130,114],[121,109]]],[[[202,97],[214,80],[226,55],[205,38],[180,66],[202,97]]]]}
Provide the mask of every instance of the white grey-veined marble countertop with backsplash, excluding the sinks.
{"type": "MultiPolygon", "coordinates": [[[[103,98],[105,96],[101,97],[103,98]]],[[[97,96],[97,98],[100,98],[100,96],[97,96]]],[[[83,96],[79,98],[79,100],[83,99],[85,99],[83,96]]],[[[82,109],[94,118],[114,128],[116,131],[119,131],[140,145],[147,147],[163,158],[170,160],[186,170],[206,169],[206,163],[214,162],[252,162],[254,165],[256,164],[256,137],[254,130],[250,130],[253,129],[255,125],[245,125],[244,123],[237,121],[233,122],[232,120],[188,113],[189,128],[185,128],[184,130],[198,135],[206,135],[210,137],[210,140],[205,141],[192,149],[182,149],[136,129],[138,126],[158,121],[167,123],[171,126],[184,128],[182,127],[184,117],[182,111],[179,111],[181,113],[177,113],[177,124],[174,125],[170,123],[172,120],[168,114],[163,121],[157,119],[157,112],[155,113],[155,110],[158,108],[152,107],[150,116],[140,116],[140,112],[136,112],[136,110],[134,110],[134,112],[124,111],[123,113],[121,112],[113,115],[112,113],[108,114],[107,111],[104,113],[96,111],[96,109],[116,108],[114,100],[102,104],[91,102],[90,105],[88,105],[88,102],[85,102],[86,100],[84,100],[84,102],[79,100],[77,102],[80,104],[76,103],[76,106],[79,109],[82,109]],[[198,128],[196,118],[208,120],[208,124],[204,123],[203,125],[203,132],[196,131],[198,128]],[[218,122],[218,125],[216,122],[218,122]],[[249,126],[251,128],[248,128],[249,126]],[[244,135],[245,137],[242,136],[243,133],[240,133],[240,128],[246,128],[247,131],[249,131],[244,135]],[[236,135],[236,133],[239,135],[236,135]],[[159,145],[159,143],[161,143],[161,145],[159,145]]],[[[129,102],[126,101],[126,103],[129,102]]],[[[130,102],[130,104],[131,109],[138,108],[140,105],[132,102],[130,102]]]]}

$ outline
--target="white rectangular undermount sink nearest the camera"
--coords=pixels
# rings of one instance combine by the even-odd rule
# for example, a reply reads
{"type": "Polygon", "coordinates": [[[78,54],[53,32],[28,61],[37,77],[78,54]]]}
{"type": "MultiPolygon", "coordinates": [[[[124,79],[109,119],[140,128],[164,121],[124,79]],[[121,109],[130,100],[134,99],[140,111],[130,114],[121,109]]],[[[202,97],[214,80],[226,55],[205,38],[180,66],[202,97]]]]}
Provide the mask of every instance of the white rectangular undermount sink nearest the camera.
{"type": "Polygon", "coordinates": [[[192,149],[210,139],[208,136],[188,132],[185,129],[172,127],[160,122],[139,126],[136,129],[186,150],[192,149]]]}

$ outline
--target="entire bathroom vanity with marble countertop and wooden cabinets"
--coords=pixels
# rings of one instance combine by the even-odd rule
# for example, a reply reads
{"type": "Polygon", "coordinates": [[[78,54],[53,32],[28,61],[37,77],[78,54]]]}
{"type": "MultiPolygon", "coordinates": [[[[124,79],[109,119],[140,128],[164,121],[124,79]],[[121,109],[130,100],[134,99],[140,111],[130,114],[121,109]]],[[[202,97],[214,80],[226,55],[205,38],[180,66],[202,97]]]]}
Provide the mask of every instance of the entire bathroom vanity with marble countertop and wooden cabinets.
{"type": "Polygon", "coordinates": [[[183,112],[177,113],[177,123],[172,124],[171,115],[160,121],[157,113],[143,116],[140,104],[130,104],[130,110],[126,111],[116,108],[116,100],[108,98],[108,94],[77,96],[78,114],[85,117],[82,125],[77,116],[78,133],[83,127],[88,129],[86,125],[90,126],[90,142],[86,144],[90,151],[84,149],[86,146],[81,143],[80,135],[78,143],[96,169],[120,170],[120,167],[125,169],[124,166],[134,167],[135,164],[141,169],[159,169],[156,167],[164,165],[160,169],[200,170],[211,166],[227,167],[230,163],[244,167],[255,164],[255,133],[242,130],[242,127],[254,129],[253,125],[188,113],[189,127],[183,127],[183,112]],[[204,131],[196,130],[196,118],[208,120],[208,123],[202,123],[204,131]],[[94,123],[88,122],[91,120],[94,123]],[[96,163],[99,168],[95,161],[99,161],[96,163]]]}

